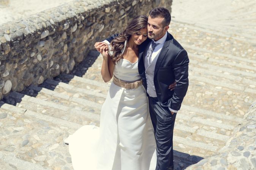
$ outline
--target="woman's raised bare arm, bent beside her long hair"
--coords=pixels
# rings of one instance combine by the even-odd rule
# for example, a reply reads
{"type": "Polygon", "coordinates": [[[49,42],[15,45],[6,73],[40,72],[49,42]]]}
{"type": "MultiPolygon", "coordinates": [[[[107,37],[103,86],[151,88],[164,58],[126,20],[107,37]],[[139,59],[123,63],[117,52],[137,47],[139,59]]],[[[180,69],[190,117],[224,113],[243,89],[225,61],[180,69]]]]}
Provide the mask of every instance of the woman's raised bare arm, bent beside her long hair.
{"type": "Polygon", "coordinates": [[[101,76],[104,82],[109,82],[112,79],[115,66],[108,54],[108,50],[108,47],[104,47],[103,52],[101,53],[103,56],[101,76]]]}

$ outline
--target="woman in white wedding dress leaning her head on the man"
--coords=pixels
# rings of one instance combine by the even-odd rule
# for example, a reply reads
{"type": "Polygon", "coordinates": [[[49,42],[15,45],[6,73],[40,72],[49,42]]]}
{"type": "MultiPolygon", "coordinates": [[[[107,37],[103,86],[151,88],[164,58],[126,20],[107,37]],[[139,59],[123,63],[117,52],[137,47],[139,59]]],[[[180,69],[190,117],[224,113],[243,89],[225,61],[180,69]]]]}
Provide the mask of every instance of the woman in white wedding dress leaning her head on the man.
{"type": "Polygon", "coordinates": [[[66,140],[74,170],[155,170],[155,137],[137,64],[147,20],[145,15],[135,17],[102,48],[101,75],[104,82],[113,81],[100,127],[85,125],[66,140]]]}

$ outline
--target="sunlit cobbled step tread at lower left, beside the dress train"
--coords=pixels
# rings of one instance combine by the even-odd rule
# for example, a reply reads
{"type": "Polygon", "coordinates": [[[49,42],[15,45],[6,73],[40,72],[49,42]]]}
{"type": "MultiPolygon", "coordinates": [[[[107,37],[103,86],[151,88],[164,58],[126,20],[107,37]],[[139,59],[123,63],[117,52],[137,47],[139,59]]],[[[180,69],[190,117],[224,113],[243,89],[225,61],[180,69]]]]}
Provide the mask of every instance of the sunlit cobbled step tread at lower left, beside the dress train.
{"type": "Polygon", "coordinates": [[[8,104],[1,106],[0,113],[7,114],[5,119],[0,119],[4,125],[0,155],[10,167],[21,170],[72,168],[71,162],[65,160],[70,160],[70,155],[66,154],[68,147],[63,140],[81,125],[8,104]]]}

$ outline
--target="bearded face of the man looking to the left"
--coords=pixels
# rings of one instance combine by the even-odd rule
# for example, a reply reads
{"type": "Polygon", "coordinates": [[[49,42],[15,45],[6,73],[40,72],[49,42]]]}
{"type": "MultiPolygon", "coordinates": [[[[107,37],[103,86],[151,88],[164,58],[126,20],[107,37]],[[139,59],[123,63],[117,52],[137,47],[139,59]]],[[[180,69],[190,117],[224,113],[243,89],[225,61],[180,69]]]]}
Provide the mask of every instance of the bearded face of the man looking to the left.
{"type": "Polygon", "coordinates": [[[164,18],[156,17],[152,19],[149,16],[147,25],[149,39],[154,39],[155,41],[157,41],[164,36],[169,26],[163,26],[163,21],[164,18]]]}

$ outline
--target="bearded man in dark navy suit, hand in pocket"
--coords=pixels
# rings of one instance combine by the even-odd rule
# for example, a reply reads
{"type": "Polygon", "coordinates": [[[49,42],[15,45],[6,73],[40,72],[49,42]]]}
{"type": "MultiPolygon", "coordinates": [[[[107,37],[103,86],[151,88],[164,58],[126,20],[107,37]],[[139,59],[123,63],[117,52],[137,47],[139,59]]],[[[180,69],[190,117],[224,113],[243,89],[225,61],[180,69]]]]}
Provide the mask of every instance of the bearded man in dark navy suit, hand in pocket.
{"type": "MultiPolygon", "coordinates": [[[[175,117],[188,90],[188,54],[167,31],[171,22],[168,9],[149,12],[148,39],[139,46],[139,74],[149,97],[149,112],[155,131],[156,170],[172,170],[175,117]],[[176,81],[174,90],[168,85],[176,81]]],[[[108,42],[116,35],[106,39],[108,42]]],[[[106,41],[105,40],[105,41],[106,41]]],[[[98,51],[104,43],[96,43],[98,51]]]]}

